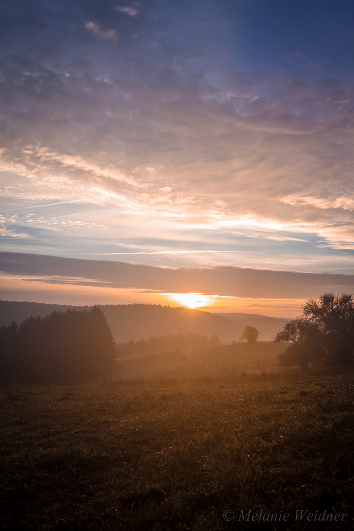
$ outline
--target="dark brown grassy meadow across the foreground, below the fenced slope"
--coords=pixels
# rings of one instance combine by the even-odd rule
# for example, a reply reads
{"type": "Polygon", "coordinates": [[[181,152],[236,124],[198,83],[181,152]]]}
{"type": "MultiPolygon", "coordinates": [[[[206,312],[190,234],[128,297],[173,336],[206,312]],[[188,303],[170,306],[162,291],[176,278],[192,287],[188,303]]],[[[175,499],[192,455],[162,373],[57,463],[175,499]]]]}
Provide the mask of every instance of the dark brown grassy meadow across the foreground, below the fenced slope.
{"type": "Polygon", "coordinates": [[[208,374],[0,389],[1,528],[352,529],[354,375],[208,374]]]}

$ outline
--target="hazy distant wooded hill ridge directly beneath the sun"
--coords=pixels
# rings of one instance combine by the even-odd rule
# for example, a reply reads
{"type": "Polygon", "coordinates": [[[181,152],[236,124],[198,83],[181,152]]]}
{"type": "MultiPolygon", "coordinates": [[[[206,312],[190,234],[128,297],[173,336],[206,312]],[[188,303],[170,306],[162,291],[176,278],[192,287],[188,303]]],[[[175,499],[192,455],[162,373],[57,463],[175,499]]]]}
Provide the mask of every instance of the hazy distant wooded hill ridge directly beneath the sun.
{"type": "MultiPolygon", "coordinates": [[[[106,315],[117,342],[148,339],[151,336],[198,332],[210,337],[216,333],[221,341],[238,340],[246,326],[260,332],[260,340],[269,341],[283,327],[285,319],[253,314],[218,315],[201,310],[161,306],[156,304],[98,305],[106,315]]],[[[44,317],[68,308],[90,310],[92,306],[70,306],[34,302],[0,301],[0,326],[12,321],[21,323],[31,315],[44,317]]]]}

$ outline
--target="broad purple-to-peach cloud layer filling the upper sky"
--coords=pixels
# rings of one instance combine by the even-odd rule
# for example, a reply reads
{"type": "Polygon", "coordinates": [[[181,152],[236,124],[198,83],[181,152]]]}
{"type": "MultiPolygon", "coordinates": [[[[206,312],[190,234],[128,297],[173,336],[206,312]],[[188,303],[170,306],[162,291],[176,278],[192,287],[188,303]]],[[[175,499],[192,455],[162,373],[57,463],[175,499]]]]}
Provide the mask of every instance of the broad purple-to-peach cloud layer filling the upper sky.
{"type": "Polygon", "coordinates": [[[182,259],[192,242],[189,265],[203,249],[234,264],[231,236],[249,264],[265,245],[273,265],[297,267],[352,249],[350,76],[255,66],[230,3],[22,4],[3,9],[1,195],[19,207],[6,237],[60,227],[53,244],[92,253],[103,226],[97,252],[140,233],[141,255],[182,259]]]}

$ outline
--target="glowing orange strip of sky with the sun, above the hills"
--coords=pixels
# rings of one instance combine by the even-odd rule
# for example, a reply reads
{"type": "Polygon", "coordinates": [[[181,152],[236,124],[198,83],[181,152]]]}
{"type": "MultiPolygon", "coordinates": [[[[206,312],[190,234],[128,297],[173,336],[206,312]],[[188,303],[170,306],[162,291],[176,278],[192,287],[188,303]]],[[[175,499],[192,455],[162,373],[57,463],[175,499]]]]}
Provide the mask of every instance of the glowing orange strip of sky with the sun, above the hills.
{"type": "Polygon", "coordinates": [[[0,275],[2,298],[9,301],[29,300],[51,304],[161,304],[184,306],[207,312],[241,312],[295,318],[305,299],[248,298],[202,293],[165,293],[153,289],[116,288],[109,281],[90,278],[0,275]],[[77,284],[75,284],[77,281],[77,284]]]}

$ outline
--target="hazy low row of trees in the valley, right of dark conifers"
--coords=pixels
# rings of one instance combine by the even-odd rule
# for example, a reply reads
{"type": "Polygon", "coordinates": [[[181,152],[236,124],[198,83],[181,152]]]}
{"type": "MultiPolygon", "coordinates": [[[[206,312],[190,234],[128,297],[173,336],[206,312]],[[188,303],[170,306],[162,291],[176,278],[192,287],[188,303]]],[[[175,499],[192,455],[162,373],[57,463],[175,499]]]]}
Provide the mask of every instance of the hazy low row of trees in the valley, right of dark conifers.
{"type": "Polygon", "coordinates": [[[170,334],[169,336],[151,336],[149,339],[140,339],[133,341],[133,339],[126,343],[117,344],[117,352],[119,356],[130,356],[134,354],[145,354],[150,352],[163,352],[165,350],[191,350],[196,348],[210,348],[218,347],[220,345],[219,338],[213,334],[209,339],[206,336],[201,336],[197,332],[190,332],[188,334],[170,334]]]}

